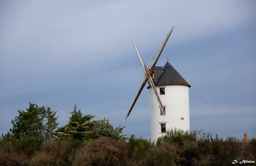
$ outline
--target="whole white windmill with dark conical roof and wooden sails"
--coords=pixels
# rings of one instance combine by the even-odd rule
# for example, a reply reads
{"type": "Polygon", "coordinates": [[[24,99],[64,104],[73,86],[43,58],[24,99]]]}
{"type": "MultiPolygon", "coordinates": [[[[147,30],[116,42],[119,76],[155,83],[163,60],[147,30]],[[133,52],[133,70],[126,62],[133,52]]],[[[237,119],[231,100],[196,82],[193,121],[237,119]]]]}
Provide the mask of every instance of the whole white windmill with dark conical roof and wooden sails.
{"type": "Polygon", "coordinates": [[[167,62],[163,67],[156,66],[156,63],[163,52],[166,42],[172,34],[167,34],[161,48],[157,52],[150,68],[145,65],[138,48],[134,44],[141,65],[145,72],[145,79],[127,112],[127,117],[132,111],[141,91],[149,82],[149,100],[150,100],[150,138],[154,142],[158,137],[164,135],[166,130],[174,128],[180,130],[189,130],[189,87],[185,79],[167,62]]]}

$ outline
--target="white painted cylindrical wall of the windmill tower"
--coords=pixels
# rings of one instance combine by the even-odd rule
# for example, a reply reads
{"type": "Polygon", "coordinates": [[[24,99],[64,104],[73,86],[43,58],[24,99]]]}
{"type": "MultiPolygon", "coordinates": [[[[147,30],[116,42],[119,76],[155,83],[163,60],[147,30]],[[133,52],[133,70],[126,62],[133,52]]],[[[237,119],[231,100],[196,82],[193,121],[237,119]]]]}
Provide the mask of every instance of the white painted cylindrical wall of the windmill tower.
{"type": "MultiPolygon", "coordinates": [[[[165,94],[159,95],[161,102],[166,106],[165,116],[160,115],[159,105],[152,87],[149,88],[150,102],[150,138],[154,142],[161,133],[161,125],[166,123],[166,130],[189,130],[189,87],[188,86],[159,86],[165,87],[165,94]],[[181,119],[184,117],[184,120],[181,119]]],[[[159,94],[159,87],[156,87],[159,94]]]]}

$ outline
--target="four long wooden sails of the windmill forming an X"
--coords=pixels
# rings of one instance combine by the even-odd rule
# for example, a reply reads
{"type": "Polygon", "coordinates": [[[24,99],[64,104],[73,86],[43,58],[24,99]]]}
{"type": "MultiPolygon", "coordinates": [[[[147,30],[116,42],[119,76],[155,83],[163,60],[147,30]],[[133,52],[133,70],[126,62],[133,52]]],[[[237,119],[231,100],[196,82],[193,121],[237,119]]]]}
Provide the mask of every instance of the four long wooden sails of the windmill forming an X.
{"type": "Polygon", "coordinates": [[[147,84],[147,81],[149,81],[150,86],[152,86],[152,88],[154,89],[154,93],[155,93],[155,95],[156,95],[156,100],[157,100],[157,102],[158,102],[158,104],[159,104],[159,108],[160,108],[160,110],[161,110],[161,114],[164,114],[163,103],[161,102],[160,97],[159,97],[159,94],[157,93],[156,86],[155,86],[155,84],[154,84],[154,80],[153,80],[153,78],[152,78],[152,75],[153,75],[153,72],[154,72],[154,67],[156,66],[156,63],[157,63],[159,57],[161,56],[161,53],[163,52],[164,46],[166,45],[168,39],[170,38],[170,36],[171,36],[171,34],[172,34],[173,28],[174,28],[174,26],[172,27],[172,29],[170,30],[170,32],[166,35],[166,39],[164,40],[164,42],[162,43],[160,49],[158,50],[158,52],[157,52],[157,54],[156,54],[156,57],[155,57],[153,63],[151,64],[151,67],[150,67],[149,69],[148,69],[147,66],[145,65],[145,63],[144,63],[144,61],[143,61],[143,59],[142,59],[142,57],[141,57],[141,54],[140,54],[140,52],[139,52],[139,50],[138,50],[136,44],[135,44],[134,41],[133,41],[134,49],[136,50],[136,53],[137,53],[137,55],[138,55],[138,57],[139,57],[139,59],[140,59],[141,66],[143,66],[143,71],[144,71],[144,73],[145,73],[145,78],[144,78],[144,80],[143,80],[143,82],[142,82],[142,84],[141,84],[141,86],[140,86],[140,89],[139,89],[139,91],[138,91],[138,93],[137,93],[137,95],[136,95],[134,101],[132,102],[132,105],[131,105],[130,109],[129,109],[128,112],[127,112],[127,116],[125,117],[125,119],[127,119],[127,117],[131,114],[131,111],[132,111],[132,109],[133,109],[135,103],[137,102],[137,100],[138,100],[138,98],[139,98],[139,96],[140,96],[140,94],[141,94],[141,91],[143,90],[143,88],[144,88],[145,85],[147,84]]]}

